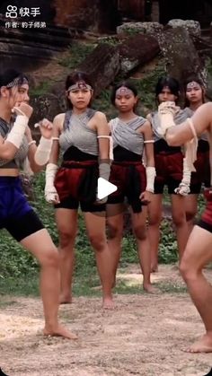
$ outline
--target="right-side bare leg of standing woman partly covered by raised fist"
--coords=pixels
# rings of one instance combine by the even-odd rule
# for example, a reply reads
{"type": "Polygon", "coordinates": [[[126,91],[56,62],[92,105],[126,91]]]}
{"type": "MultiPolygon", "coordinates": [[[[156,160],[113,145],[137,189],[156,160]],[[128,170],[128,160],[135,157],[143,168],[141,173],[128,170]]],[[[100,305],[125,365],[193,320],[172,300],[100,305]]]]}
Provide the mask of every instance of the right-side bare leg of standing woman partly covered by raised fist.
{"type": "Polygon", "coordinates": [[[171,195],[171,200],[172,221],[175,226],[179,249],[179,258],[181,260],[182,254],[186,247],[187,240],[189,238],[189,231],[185,214],[184,197],[182,197],[181,195],[171,195]]]}

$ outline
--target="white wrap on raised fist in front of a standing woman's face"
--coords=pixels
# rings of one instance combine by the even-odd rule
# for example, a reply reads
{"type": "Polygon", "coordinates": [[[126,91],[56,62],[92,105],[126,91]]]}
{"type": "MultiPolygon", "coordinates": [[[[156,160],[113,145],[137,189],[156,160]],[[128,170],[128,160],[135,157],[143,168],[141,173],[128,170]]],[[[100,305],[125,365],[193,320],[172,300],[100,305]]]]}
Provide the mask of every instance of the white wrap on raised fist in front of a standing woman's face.
{"type": "Polygon", "coordinates": [[[160,127],[158,127],[159,135],[165,136],[167,129],[175,126],[173,117],[177,109],[174,102],[165,101],[160,104],[158,107],[158,117],[161,122],[160,127]]]}

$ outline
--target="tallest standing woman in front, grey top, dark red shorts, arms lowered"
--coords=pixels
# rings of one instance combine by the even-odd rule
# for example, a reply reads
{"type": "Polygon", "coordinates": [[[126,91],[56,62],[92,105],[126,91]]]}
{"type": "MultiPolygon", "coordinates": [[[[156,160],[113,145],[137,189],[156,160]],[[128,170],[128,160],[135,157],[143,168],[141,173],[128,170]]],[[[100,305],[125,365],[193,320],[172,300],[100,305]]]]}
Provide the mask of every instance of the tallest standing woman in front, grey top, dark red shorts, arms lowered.
{"type": "Polygon", "coordinates": [[[66,78],[69,110],[54,119],[53,146],[45,194],[56,208],[61,265],[60,302],[71,302],[74,244],[80,203],[102,281],[103,308],[113,306],[110,251],[105,235],[105,203],[97,202],[97,179],[109,179],[109,127],[105,115],[90,108],[93,85],[86,74],[66,78]],[[59,152],[62,164],[58,168],[59,152]]]}

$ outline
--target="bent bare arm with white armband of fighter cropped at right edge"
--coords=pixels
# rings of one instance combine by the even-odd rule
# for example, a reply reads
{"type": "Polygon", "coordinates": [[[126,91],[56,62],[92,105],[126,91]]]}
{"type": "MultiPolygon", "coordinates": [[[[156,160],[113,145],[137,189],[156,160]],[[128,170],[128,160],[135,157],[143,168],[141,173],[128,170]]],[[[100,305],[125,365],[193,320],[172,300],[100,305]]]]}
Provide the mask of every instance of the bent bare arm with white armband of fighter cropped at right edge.
{"type": "MultiPolygon", "coordinates": [[[[204,103],[191,118],[197,136],[200,136],[212,125],[212,103],[204,103]]],[[[170,127],[166,131],[166,141],[171,146],[185,144],[194,137],[194,132],[188,120],[177,127],[170,127]]]]}

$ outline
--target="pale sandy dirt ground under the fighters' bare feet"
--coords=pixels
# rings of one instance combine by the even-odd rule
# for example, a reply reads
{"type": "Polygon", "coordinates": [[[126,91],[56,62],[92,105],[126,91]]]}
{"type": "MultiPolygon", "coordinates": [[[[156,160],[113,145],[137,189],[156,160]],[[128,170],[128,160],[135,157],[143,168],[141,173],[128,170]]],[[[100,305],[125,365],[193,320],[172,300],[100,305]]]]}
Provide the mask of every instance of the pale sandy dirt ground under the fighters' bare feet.
{"type": "MultiPolygon", "coordinates": [[[[206,272],[212,280],[212,270],[206,272]]],[[[128,284],[139,267],[119,274],[128,284]]],[[[176,268],[161,266],[153,282],[182,286],[176,268]]],[[[100,298],[75,298],[60,317],[77,341],[42,337],[39,299],[7,296],[0,305],[0,366],[10,376],[203,376],[212,354],[187,354],[204,331],[187,293],[116,295],[116,309],[102,310],[100,298]]]]}

